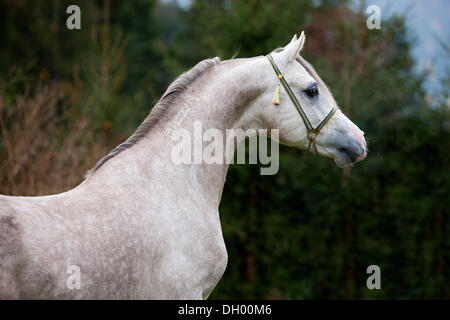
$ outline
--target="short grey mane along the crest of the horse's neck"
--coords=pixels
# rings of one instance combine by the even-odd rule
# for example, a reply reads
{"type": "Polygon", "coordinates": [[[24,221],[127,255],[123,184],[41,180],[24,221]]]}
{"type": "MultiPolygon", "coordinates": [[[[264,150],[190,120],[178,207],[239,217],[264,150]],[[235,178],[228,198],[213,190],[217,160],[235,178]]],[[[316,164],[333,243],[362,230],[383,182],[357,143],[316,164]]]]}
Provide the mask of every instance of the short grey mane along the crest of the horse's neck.
{"type": "Polygon", "coordinates": [[[220,59],[218,57],[212,59],[205,59],[197,63],[192,69],[181,74],[174,82],[170,84],[166,92],[162,95],[159,101],[152,108],[150,114],[145,118],[136,131],[124,142],[119,144],[113,150],[111,150],[106,156],[101,158],[95,167],[88,171],[86,178],[93,175],[101,166],[103,166],[108,160],[114,158],[122,151],[131,148],[139,140],[144,138],[149,131],[161,120],[168,108],[174,103],[180,94],[182,94],[186,88],[197,80],[201,75],[210,70],[214,65],[218,64],[220,59]]]}

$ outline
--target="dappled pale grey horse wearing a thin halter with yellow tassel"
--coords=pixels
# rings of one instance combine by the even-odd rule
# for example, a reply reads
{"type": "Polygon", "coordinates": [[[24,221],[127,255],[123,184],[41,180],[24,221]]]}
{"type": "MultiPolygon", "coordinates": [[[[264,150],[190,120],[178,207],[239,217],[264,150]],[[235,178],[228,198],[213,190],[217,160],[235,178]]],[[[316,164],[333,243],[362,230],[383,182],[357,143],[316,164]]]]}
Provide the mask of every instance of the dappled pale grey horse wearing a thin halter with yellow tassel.
{"type": "Polygon", "coordinates": [[[228,262],[218,210],[228,163],[175,164],[170,128],[276,128],[278,143],[339,167],[366,156],[304,43],[302,32],[270,56],[199,62],[77,187],[0,196],[0,298],[208,298],[228,262]]]}

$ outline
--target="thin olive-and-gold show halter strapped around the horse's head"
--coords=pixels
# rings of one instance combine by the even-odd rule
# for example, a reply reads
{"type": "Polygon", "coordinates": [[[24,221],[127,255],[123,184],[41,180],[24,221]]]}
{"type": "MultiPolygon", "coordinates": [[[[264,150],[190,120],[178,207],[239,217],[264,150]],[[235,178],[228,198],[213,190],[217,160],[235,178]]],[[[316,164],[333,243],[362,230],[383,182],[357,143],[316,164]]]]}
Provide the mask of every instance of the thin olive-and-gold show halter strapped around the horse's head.
{"type": "Polygon", "coordinates": [[[275,61],[273,61],[272,56],[270,54],[268,54],[267,58],[269,59],[270,64],[272,65],[272,68],[273,68],[273,70],[275,71],[275,73],[276,73],[276,75],[278,77],[278,80],[283,85],[284,90],[286,90],[289,98],[291,98],[291,101],[292,101],[292,103],[295,106],[295,109],[297,109],[298,114],[300,115],[300,117],[302,117],[302,120],[305,123],[306,136],[307,136],[307,138],[309,140],[308,151],[311,149],[311,145],[312,145],[312,146],[314,146],[315,153],[317,153],[317,147],[316,147],[316,144],[315,144],[314,140],[319,135],[320,130],[323,128],[323,126],[328,122],[328,120],[331,119],[331,117],[333,117],[334,113],[337,111],[337,108],[333,107],[333,109],[331,109],[331,111],[322,120],[322,122],[317,127],[314,128],[311,125],[311,122],[309,121],[308,117],[306,116],[305,111],[303,111],[303,108],[300,105],[300,102],[298,102],[297,97],[292,92],[291,87],[287,83],[286,79],[284,79],[283,74],[281,73],[280,69],[278,69],[277,65],[275,64],[275,61]]]}

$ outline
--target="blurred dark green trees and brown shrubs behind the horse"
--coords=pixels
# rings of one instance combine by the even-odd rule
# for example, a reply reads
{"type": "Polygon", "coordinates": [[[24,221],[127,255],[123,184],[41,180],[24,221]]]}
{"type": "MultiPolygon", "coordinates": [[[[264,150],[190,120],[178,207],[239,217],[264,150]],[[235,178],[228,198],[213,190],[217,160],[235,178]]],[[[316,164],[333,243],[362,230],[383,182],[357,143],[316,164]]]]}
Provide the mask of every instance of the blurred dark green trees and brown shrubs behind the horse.
{"type": "Polygon", "coordinates": [[[302,55],[370,153],[351,170],[284,147],[275,176],[231,166],[220,206],[229,263],[211,298],[448,299],[450,70],[430,101],[405,18],[368,30],[364,11],[333,0],[0,0],[0,193],[74,187],[178,74],[305,30],[302,55]],[[70,4],[81,30],[66,28],[70,4]],[[381,290],[366,287],[372,264],[381,290]]]}

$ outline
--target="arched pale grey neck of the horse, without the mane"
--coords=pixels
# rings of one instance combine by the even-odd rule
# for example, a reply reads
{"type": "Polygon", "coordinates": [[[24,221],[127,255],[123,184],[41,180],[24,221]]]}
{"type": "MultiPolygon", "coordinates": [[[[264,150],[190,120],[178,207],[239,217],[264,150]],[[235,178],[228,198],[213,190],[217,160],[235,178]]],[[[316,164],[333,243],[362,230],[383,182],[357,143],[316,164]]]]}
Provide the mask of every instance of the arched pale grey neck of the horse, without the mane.
{"type": "MultiPolygon", "coordinates": [[[[247,111],[252,101],[264,91],[265,84],[258,81],[264,79],[258,72],[267,72],[258,67],[262,63],[261,58],[239,59],[214,67],[211,74],[199,78],[180,95],[168,108],[164,118],[141,141],[123,152],[122,156],[108,161],[111,163],[106,163],[105,168],[92,178],[98,175],[101,180],[101,176],[115,174],[118,175],[117,182],[130,181],[141,190],[164,181],[170,190],[180,187],[180,193],[184,190],[195,193],[197,197],[203,195],[212,206],[218,207],[228,164],[225,160],[222,164],[174,163],[171,152],[178,141],[174,141],[173,132],[189,132],[194,144],[195,127],[198,130],[199,124],[201,133],[216,129],[224,138],[227,129],[257,129],[259,124],[250,119],[247,111]],[[125,162],[130,163],[127,165],[125,162]]],[[[209,144],[208,141],[201,143],[201,150],[209,144]]],[[[224,142],[225,147],[230,148],[230,145],[224,142]]],[[[234,152],[235,145],[231,147],[226,152],[234,152]]]]}

